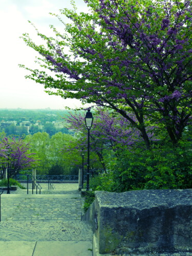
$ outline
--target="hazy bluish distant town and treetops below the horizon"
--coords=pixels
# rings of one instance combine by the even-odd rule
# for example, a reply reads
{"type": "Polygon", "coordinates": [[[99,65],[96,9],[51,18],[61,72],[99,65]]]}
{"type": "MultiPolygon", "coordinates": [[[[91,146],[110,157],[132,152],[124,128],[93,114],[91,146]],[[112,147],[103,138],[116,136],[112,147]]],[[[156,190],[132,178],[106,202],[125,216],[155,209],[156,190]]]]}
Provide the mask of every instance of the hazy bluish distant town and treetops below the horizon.
{"type": "Polygon", "coordinates": [[[0,132],[7,135],[28,135],[37,132],[70,133],[65,117],[71,112],[67,110],[1,110],[0,132]]]}

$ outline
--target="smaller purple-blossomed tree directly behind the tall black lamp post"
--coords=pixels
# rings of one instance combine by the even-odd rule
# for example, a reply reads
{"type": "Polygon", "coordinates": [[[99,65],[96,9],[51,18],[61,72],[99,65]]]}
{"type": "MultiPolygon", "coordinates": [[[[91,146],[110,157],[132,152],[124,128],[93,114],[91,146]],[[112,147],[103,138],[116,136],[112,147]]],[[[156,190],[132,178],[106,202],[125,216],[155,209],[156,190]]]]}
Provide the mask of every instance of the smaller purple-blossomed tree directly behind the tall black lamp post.
{"type": "MultiPolygon", "coordinates": [[[[134,117],[132,117],[134,119],[134,117]]],[[[76,131],[77,143],[65,150],[73,151],[74,147],[79,151],[87,148],[87,129],[84,123],[84,116],[79,113],[69,115],[65,118],[68,122],[68,129],[76,131]]],[[[147,127],[147,134],[152,140],[157,140],[154,135],[154,126],[147,127]]],[[[141,133],[120,114],[114,111],[97,108],[94,113],[94,122],[90,133],[91,152],[95,152],[99,158],[102,168],[106,170],[106,156],[114,155],[117,159],[126,151],[134,151],[134,147],[143,142],[141,133]]]]}

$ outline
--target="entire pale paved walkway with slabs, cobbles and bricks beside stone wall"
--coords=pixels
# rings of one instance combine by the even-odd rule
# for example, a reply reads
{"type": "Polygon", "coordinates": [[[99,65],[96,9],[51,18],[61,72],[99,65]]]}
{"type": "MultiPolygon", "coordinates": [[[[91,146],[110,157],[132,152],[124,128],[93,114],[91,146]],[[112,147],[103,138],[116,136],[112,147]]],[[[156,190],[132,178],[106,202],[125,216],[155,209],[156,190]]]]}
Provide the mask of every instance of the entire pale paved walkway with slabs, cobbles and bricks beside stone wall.
{"type": "MultiPolygon", "coordinates": [[[[91,256],[93,232],[81,220],[77,184],[41,195],[24,190],[1,196],[0,256],[91,256]]],[[[4,192],[6,193],[6,191],[4,192]]]]}

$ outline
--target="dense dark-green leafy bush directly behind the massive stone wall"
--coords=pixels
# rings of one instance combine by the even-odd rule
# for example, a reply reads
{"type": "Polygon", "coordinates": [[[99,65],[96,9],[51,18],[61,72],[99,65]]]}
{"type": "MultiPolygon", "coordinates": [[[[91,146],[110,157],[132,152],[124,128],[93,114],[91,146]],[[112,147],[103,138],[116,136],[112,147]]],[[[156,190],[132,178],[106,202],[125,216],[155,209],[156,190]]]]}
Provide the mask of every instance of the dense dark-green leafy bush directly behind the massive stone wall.
{"type": "Polygon", "coordinates": [[[165,143],[150,150],[126,152],[123,166],[114,170],[113,191],[136,189],[184,189],[192,187],[190,141],[165,143]]]}

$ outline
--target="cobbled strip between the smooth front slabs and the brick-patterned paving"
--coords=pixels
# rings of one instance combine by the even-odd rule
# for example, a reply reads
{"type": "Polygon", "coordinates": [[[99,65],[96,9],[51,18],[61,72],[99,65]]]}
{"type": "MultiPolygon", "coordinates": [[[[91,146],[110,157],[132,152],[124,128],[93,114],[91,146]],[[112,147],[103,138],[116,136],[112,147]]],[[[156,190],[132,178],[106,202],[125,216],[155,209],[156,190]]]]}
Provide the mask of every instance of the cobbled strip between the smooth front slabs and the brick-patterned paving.
{"type": "Polygon", "coordinates": [[[0,241],[4,242],[92,240],[92,227],[87,221],[0,222],[0,241]]]}

